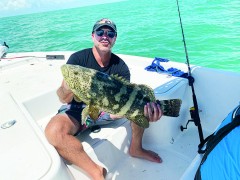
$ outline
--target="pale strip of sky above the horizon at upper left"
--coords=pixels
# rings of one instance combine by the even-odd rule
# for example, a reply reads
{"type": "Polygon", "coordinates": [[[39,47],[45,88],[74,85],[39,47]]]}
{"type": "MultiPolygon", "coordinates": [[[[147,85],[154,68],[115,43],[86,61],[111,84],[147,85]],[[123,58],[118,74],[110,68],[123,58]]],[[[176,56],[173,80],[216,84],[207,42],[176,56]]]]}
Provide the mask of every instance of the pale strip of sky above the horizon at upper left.
{"type": "Polygon", "coordinates": [[[0,17],[68,9],[121,0],[0,0],[0,17]]]}

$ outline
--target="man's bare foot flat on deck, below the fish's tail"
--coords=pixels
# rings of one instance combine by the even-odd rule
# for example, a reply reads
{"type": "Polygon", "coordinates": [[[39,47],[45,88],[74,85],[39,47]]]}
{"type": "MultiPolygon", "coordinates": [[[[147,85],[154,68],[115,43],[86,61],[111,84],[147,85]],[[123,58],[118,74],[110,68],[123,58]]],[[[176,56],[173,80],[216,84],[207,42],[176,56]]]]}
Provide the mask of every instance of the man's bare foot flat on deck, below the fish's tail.
{"type": "Polygon", "coordinates": [[[129,154],[132,157],[143,158],[148,161],[162,163],[161,157],[157,153],[150,150],[146,150],[146,149],[134,150],[133,148],[130,148],[129,154]]]}

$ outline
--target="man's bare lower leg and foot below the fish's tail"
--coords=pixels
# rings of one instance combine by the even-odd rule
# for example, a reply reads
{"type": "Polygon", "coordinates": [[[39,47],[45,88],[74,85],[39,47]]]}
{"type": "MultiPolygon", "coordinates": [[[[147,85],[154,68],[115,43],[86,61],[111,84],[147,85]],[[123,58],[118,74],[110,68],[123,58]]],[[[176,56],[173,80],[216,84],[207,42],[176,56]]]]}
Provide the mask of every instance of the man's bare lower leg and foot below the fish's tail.
{"type": "Polygon", "coordinates": [[[142,147],[142,138],[144,129],[135,123],[131,123],[132,126],[132,140],[129,148],[129,154],[133,157],[143,158],[156,163],[161,163],[160,156],[150,150],[146,150],[142,147]]]}

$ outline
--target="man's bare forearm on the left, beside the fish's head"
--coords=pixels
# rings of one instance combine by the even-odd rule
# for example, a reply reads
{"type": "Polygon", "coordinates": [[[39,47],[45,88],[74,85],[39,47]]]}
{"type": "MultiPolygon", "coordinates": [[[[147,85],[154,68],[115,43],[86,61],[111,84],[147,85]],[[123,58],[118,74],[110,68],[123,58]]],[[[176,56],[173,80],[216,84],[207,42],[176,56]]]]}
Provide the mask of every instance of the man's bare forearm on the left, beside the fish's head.
{"type": "Polygon", "coordinates": [[[73,92],[70,90],[64,80],[57,90],[57,95],[62,103],[70,103],[73,99],[73,92]]]}

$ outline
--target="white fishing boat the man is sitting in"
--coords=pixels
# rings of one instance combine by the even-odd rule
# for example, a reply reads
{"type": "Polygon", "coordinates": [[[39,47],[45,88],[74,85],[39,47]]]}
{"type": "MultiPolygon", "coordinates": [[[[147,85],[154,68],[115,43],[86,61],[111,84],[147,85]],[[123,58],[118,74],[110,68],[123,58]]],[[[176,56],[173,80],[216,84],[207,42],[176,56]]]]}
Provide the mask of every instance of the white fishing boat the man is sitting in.
{"type": "MultiPolygon", "coordinates": [[[[45,138],[44,128],[61,103],[56,95],[62,75],[60,66],[72,52],[10,53],[0,61],[0,179],[85,180],[78,167],[65,162],[45,138]],[[46,59],[64,55],[65,59],[46,59]],[[18,58],[14,58],[18,57],[18,58]],[[53,56],[54,57],[54,56],[53,56]]],[[[151,86],[157,99],[182,99],[179,117],[163,116],[151,123],[144,134],[144,147],[161,156],[153,163],[128,154],[131,128],[126,119],[86,130],[77,137],[88,155],[108,170],[106,179],[192,180],[200,163],[199,133],[191,119],[192,90],[185,78],[144,68],[152,58],[122,55],[131,71],[131,81],[151,86]]],[[[165,62],[187,72],[185,63],[165,62]]],[[[214,132],[240,101],[240,73],[191,65],[194,88],[204,137],[214,132]]]]}

